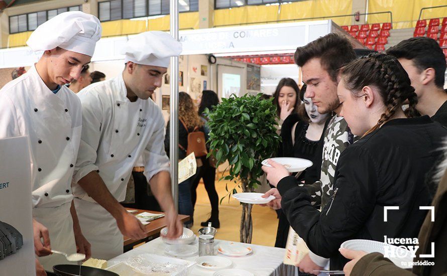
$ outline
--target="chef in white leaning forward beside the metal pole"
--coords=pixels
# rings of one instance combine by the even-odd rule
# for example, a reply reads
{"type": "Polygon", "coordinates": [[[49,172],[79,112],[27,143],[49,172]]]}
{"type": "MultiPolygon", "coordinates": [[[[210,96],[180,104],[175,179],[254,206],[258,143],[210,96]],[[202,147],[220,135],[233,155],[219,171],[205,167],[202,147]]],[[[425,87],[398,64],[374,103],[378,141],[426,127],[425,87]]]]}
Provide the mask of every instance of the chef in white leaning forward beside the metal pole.
{"type": "Polygon", "coordinates": [[[127,42],[126,67],[118,77],[94,83],[77,95],[82,102],[82,136],[73,182],[74,203],[92,257],[123,253],[123,235],[146,237],[141,222],[120,204],[134,164],[144,155],[151,190],[166,214],[168,237],[183,226],[171,195],[164,119],[149,97],[160,87],[170,57],[181,44],[164,32],[141,33],[127,42]]]}

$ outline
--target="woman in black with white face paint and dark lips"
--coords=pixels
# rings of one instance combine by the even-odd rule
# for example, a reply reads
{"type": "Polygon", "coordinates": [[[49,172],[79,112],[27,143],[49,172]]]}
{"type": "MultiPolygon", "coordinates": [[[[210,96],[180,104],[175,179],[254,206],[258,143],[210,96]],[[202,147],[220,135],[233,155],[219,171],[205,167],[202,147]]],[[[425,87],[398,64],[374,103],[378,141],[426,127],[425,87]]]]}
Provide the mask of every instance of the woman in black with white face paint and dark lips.
{"type": "MultiPolygon", "coordinates": [[[[301,104],[297,113],[290,114],[282,124],[282,147],[279,157],[296,157],[312,161],[313,165],[298,177],[298,182],[313,184],[320,179],[321,156],[325,122],[329,114],[320,114],[312,99],[305,98],[306,85],[299,92],[301,104]]],[[[284,212],[279,212],[278,230],[276,232],[275,247],[285,248],[290,224],[284,212]]]]}

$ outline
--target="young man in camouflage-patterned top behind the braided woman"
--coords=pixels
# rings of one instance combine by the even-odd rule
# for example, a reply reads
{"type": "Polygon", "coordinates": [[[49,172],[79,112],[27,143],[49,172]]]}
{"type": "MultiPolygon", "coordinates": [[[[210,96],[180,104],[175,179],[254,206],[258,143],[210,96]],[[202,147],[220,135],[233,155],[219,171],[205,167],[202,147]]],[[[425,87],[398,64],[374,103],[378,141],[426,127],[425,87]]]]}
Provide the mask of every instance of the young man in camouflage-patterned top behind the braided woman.
{"type": "MultiPolygon", "coordinates": [[[[338,70],[354,60],[356,53],[347,37],[332,33],[298,47],[294,57],[295,63],[301,67],[303,81],[307,85],[304,96],[312,99],[319,113],[334,113],[322,137],[324,146],[320,181],[313,185],[304,185],[313,199],[311,204],[316,208],[323,208],[333,194],[334,173],[340,154],[354,142],[354,135],[347,122],[338,115],[341,106],[337,86],[338,70]]],[[[271,189],[265,197],[269,195],[275,195],[277,199],[268,205],[275,209],[281,208],[278,190],[271,189]]],[[[313,270],[324,267],[327,261],[328,259],[310,252],[298,266],[301,272],[313,273],[313,270]]]]}

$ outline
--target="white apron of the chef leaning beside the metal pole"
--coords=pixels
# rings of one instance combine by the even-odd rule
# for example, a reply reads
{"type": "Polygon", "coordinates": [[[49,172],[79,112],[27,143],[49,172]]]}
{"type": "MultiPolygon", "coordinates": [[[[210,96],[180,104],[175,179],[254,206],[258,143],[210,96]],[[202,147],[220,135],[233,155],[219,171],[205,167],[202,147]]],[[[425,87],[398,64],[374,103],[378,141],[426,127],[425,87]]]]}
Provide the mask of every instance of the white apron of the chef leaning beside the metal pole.
{"type": "Polygon", "coordinates": [[[124,237],[117,221],[101,205],[74,198],[82,233],[91,244],[91,257],[109,260],[123,254],[124,237]]]}

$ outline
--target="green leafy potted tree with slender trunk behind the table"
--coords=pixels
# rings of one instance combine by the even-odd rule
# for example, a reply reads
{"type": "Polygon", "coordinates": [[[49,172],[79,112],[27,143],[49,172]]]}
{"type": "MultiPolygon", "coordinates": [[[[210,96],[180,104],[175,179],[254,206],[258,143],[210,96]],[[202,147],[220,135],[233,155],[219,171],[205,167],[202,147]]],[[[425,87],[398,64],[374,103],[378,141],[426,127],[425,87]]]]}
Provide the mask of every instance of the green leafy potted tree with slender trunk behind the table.
{"type": "MultiPolygon", "coordinates": [[[[222,98],[212,112],[205,110],[210,130],[208,143],[211,151],[208,156],[212,154],[217,165],[227,160],[230,164],[225,170],[229,175],[224,177],[224,172],[220,178],[235,183],[230,190],[227,184],[228,197],[238,192],[237,187],[243,192],[253,192],[261,184],[258,181],[263,174],[261,162],[272,157],[280,143],[280,136],[276,133],[276,106],[272,104],[273,99],[262,99],[261,95],[232,95],[228,99],[222,98]]],[[[241,205],[240,239],[251,243],[253,204],[241,205]]]]}

